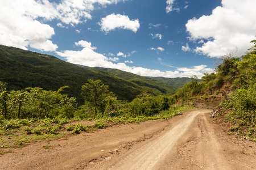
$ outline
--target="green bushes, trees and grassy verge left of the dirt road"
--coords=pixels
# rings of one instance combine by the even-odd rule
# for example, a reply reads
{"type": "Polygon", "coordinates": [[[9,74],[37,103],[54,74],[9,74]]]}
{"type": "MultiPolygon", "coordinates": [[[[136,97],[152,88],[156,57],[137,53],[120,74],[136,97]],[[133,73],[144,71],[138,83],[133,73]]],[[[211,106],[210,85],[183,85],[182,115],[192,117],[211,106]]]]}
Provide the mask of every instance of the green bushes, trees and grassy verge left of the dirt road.
{"type": "MultiPolygon", "coordinates": [[[[84,105],[57,91],[25,88],[7,91],[0,82],[0,147],[23,147],[31,142],[67,137],[81,131],[92,132],[117,124],[138,124],[142,121],[170,118],[189,107],[175,107],[166,96],[139,95],[131,102],[117,100],[101,80],[89,79],[81,87],[84,105]],[[77,122],[79,121],[79,122],[77,122]],[[81,124],[89,122],[88,124],[81,124]]],[[[49,146],[43,146],[48,148],[49,146]]],[[[7,151],[6,151],[7,149],[7,151]]]]}

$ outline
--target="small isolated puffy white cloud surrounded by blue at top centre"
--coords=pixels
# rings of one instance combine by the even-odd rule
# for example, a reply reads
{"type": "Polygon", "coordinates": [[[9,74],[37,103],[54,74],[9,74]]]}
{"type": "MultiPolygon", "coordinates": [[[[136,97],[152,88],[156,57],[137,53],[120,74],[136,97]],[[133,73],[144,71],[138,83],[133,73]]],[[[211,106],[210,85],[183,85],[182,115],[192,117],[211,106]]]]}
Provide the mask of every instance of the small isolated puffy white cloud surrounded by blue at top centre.
{"type": "Polygon", "coordinates": [[[133,32],[137,32],[139,29],[139,19],[130,20],[128,16],[121,14],[110,14],[105,18],[101,19],[101,31],[108,33],[113,31],[115,28],[119,29],[130,29],[133,32]]]}

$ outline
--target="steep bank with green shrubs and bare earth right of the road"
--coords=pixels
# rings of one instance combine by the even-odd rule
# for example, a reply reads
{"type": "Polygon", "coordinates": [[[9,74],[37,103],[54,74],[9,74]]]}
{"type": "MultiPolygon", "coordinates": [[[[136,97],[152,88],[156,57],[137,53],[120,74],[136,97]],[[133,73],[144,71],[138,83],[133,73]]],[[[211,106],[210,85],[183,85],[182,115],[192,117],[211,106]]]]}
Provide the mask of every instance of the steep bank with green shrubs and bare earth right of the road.
{"type": "Polygon", "coordinates": [[[216,73],[205,73],[200,82],[192,77],[171,96],[172,103],[209,101],[221,93],[224,99],[215,119],[229,126],[229,134],[256,141],[256,40],[251,42],[254,46],[245,56],[229,54],[219,59],[216,73]]]}

